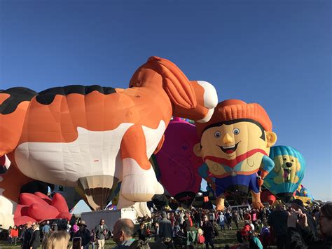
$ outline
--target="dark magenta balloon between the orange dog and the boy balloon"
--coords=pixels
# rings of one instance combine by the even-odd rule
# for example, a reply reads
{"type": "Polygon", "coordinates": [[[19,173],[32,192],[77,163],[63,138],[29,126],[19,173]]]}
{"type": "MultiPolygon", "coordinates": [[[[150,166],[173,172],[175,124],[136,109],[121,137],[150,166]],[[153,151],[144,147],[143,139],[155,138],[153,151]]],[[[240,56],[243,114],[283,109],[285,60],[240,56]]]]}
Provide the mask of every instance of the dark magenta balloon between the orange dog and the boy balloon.
{"type": "Polygon", "coordinates": [[[160,183],[183,208],[191,206],[202,182],[198,175],[202,158],[193,153],[198,142],[195,126],[174,118],[165,131],[162,148],[155,154],[160,183]]]}

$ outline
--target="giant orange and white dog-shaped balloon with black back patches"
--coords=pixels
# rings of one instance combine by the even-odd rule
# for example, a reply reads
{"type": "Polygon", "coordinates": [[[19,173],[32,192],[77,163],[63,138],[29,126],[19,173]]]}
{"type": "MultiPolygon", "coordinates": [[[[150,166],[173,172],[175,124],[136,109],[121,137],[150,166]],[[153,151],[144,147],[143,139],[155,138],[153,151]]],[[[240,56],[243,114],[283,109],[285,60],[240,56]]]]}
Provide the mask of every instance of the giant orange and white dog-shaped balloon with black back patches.
{"type": "Polygon", "coordinates": [[[2,194],[17,203],[20,187],[34,179],[76,187],[98,210],[121,181],[121,207],[149,201],[164,190],[148,159],[171,116],[207,122],[217,102],[211,84],[189,81],[158,57],[137,69],[127,89],[1,90],[0,157],[11,161],[2,165],[2,194]]]}

